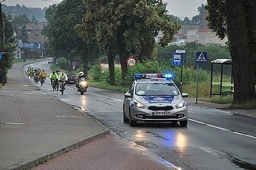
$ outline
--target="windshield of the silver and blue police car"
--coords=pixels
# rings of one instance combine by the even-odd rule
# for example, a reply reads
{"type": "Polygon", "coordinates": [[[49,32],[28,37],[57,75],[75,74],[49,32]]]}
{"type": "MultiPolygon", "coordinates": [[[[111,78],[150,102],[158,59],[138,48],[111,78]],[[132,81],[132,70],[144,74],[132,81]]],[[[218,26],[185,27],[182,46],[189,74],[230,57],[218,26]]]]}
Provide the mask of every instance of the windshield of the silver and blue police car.
{"type": "Polygon", "coordinates": [[[135,94],[138,96],[176,96],[179,90],[173,83],[138,83],[135,94]]]}

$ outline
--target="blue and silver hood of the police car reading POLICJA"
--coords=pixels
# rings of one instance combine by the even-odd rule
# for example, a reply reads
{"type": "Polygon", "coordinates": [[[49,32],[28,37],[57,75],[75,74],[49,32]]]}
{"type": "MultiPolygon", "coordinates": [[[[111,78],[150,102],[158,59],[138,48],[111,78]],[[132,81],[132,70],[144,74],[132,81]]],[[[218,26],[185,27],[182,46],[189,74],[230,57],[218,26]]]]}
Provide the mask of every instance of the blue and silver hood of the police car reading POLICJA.
{"type": "Polygon", "coordinates": [[[135,98],[138,102],[144,104],[155,104],[155,103],[165,103],[165,104],[177,104],[183,100],[181,96],[136,96],[135,98]]]}

